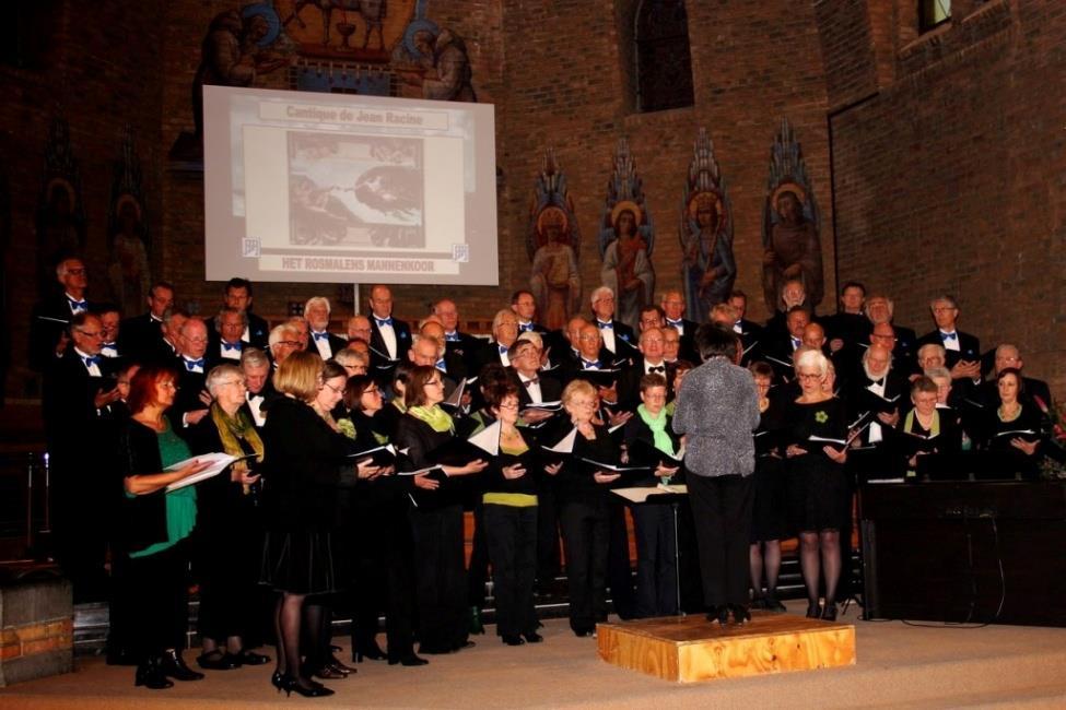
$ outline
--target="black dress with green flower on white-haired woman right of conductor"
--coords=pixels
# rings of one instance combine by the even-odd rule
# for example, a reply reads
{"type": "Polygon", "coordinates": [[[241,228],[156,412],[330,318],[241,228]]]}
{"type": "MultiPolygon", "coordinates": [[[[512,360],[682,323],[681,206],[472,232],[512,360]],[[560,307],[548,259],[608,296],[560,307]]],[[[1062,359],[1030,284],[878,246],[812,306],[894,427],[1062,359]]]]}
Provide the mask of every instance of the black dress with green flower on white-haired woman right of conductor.
{"type": "Polygon", "coordinates": [[[807,450],[787,459],[788,511],[792,528],[798,532],[840,530],[847,521],[850,488],[844,466],[822,451],[822,447],[843,448],[843,443],[811,441],[811,436],[847,438],[847,413],[835,398],[817,404],[792,402],[785,414],[789,423],[786,441],[807,450]]]}

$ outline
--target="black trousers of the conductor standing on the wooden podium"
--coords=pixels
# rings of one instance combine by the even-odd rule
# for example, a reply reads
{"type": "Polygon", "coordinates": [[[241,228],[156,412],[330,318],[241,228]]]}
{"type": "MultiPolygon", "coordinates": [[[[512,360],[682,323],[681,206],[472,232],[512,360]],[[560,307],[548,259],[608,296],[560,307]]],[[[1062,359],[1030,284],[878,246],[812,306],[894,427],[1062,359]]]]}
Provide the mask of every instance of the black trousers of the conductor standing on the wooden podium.
{"type": "Polygon", "coordinates": [[[688,477],[703,579],[703,601],[711,608],[748,604],[751,535],[751,476],[688,477]]]}

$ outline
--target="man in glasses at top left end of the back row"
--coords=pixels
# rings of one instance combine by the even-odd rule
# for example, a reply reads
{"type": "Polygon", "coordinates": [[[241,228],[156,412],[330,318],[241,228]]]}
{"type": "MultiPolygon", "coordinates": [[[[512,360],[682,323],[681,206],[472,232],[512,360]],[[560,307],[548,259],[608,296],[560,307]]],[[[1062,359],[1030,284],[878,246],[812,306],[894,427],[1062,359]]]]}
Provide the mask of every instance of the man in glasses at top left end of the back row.
{"type": "Polygon", "coordinates": [[[30,367],[45,371],[70,342],[68,326],[78,313],[90,310],[85,292],[89,275],[81,259],[63,259],[56,267],[61,294],[51,294],[34,306],[30,321],[30,367]]]}

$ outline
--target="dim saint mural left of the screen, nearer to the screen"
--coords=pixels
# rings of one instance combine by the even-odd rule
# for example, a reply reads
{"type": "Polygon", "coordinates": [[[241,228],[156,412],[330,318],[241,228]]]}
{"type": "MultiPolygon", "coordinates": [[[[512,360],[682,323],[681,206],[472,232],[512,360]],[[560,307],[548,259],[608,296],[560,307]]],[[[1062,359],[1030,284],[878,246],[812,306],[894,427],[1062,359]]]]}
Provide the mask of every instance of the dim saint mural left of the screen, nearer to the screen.
{"type": "Polygon", "coordinates": [[[110,259],[107,281],[112,297],[124,313],[143,310],[152,285],[149,265],[149,232],[144,213],[144,186],[133,129],[127,123],[114,164],[107,234],[110,259]]]}

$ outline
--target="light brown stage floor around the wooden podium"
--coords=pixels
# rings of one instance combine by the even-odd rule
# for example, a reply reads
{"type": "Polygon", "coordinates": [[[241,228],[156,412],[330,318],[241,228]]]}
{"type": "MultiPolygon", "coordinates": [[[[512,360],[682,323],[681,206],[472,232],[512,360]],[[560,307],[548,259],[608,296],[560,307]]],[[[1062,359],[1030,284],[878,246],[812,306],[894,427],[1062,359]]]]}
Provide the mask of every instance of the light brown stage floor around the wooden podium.
{"type": "MultiPolygon", "coordinates": [[[[806,602],[787,605],[797,617],[806,610],[806,602]]],[[[363,663],[355,676],[331,682],[337,695],[320,700],[274,693],[270,666],[149,691],[133,687],[132,668],[79,659],[73,674],[0,689],[0,708],[1066,707],[1066,629],[925,628],[857,614],[852,607],[841,619],[855,626],[856,664],[810,672],[671,683],[605,663],[598,639],[575,638],[565,619],[552,619],[536,646],[482,636],[476,648],[431,656],[420,668],[363,663]]],[[[194,655],[186,651],[190,662],[194,655]]]]}

